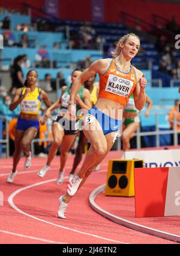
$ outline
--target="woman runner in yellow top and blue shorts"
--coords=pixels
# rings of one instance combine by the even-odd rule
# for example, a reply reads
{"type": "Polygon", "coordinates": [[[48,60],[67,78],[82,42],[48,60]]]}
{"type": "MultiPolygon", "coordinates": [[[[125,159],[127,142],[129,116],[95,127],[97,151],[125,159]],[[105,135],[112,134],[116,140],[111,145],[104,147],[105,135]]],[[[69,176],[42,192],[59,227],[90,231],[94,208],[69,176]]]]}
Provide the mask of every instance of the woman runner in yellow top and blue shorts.
{"type": "Polygon", "coordinates": [[[47,107],[50,107],[51,104],[47,93],[35,86],[37,78],[37,71],[34,69],[29,70],[26,75],[25,87],[16,90],[10,105],[10,110],[12,111],[20,104],[21,111],[16,126],[13,170],[7,178],[8,183],[12,183],[14,180],[22,151],[26,155],[25,169],[31,166],[30,146],[39,128],[38,112],[41,101],[43,100],[47,107]]]}

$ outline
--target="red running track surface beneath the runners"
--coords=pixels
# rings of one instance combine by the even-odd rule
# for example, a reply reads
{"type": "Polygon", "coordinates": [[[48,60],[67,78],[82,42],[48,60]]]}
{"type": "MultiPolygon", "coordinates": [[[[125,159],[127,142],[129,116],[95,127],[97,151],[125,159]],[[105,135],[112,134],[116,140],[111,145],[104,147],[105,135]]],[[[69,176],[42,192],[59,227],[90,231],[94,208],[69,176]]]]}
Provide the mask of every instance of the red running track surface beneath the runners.
{"type": "MultiPolygon", "coordinates": [[[[0,243],[174,243],[113,223],[95,213],[89,206],[89,194],[106,183],[108,160],[120,158],[121,154],[122,152],[111,151],[101,164],[100,171],[89,176],[68,205],[66,220],[57,217],[58,198],[67,189],[73,155],[68,158],[61,186],[56,184],[59,157],[53,160],[52,169],[45,178],[40,178],[37,172],[46,163],[46,158],[33,158],[29,170],[23,169],[22,158],[14,184],[6,183],[12,159],[1,159],[3,167],[0,173],[0,190],[4,195],[4,205],[0,206],[0,243]]],[[[103,196],[98,198],[101,204],[112,210],[111,201],[103,200],[103,196]]],[[[127,207],[132,206],[130,204],[127,207]]],[[[116,211],[118,209],[119,207],[116,211]]]]}

